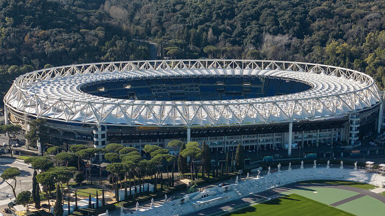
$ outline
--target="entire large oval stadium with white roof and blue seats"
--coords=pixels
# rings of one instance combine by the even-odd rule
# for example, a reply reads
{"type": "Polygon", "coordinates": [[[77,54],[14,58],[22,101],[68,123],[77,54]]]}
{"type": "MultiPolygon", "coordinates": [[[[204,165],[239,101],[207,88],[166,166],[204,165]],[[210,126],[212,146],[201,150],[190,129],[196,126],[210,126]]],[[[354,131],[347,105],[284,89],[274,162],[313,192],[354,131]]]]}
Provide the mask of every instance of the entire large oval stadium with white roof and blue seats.
{"type": "MultiPolygon", "coordinates": [[[[267,60],[151,60],[33,71],[4,97],[5,121],[46,118],[52,143],[142,150],[203,140],[212,151],[345,141],[380,130],[372,77],[336,66],[267,60]]],[[[27,143],[28,145],[28,143],[27,143]]],[[[293,145],[295,147],[295,145],[293,145]]],[[[171,150],[172,152],[173,150],[171,150]]],[[[174,153],[174,152],[172,152],[174,153]]]]}

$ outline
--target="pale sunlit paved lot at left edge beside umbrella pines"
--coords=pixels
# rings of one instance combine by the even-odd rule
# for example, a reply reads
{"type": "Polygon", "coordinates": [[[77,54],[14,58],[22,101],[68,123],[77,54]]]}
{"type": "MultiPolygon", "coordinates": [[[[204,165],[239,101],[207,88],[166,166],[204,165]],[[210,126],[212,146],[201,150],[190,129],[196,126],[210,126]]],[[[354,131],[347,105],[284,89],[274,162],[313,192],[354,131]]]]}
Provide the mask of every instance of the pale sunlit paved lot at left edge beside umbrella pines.
{"type": "MultiPolygon", "coordinates": [[[[8,169],[10,167],[17,167],[20,169],[21,172],[20,177],[16,178],[16,194],[20,193],[20,191],[32,190],[32,167],[15,159],[0,158],[0,173],[3,173],[5,169],[8,169]]],[[[14,185],[15,181],[12,180],[9,183],[14,185]]],[[[0,206],[9,202],[10,198],[7,198],[8,194],[9,197],[14,200],[11,186],[9,186],[5,181],[0,182],[0,206]]]]}

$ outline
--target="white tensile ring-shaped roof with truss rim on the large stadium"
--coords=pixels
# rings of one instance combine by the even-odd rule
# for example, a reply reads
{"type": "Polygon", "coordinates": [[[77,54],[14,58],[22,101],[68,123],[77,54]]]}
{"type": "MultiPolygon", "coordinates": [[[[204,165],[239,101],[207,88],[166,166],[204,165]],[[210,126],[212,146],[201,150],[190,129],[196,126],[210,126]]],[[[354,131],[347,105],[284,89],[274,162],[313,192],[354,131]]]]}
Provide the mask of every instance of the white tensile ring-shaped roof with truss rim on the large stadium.
{"type": "Polygon", "coordinates": [[[373,78],[335,66],[267,60],[152,60],[91,63],[18,77],[5,104],[18,112],[95,125],[221,126],[339,118],[381,101],[373,78]],[[191,76],[262,76],[296,80],[310,90],[221,101],[144,101],[90,95],[103,80],[191,76]]]}

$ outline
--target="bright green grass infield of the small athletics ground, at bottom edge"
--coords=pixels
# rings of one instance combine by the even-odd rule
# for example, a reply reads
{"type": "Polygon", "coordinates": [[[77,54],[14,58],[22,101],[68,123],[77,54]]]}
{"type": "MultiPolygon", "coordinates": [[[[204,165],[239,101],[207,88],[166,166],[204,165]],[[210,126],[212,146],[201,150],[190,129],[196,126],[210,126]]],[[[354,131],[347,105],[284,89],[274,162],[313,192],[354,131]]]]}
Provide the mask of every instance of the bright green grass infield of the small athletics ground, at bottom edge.
{"type": "Polygon", "coordinates": [[[332,206],[319,203],[298,194],[289,194],[278,199],[250,206],[225,216],[354,216],[332,206]]]}

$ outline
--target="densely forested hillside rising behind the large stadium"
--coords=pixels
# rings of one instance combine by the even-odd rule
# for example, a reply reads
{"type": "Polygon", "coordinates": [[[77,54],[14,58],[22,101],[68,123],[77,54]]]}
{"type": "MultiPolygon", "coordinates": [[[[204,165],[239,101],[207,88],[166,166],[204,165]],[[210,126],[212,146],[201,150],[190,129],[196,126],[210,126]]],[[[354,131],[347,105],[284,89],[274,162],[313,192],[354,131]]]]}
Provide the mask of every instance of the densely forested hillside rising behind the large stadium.
{"type": "Polygon", "coordinates": [[[384,13],[383,0],[2,0],[0,91],[46,64],[149,59],[139,40],[158,58],[325,63],[383,87],[384,13]]]}

